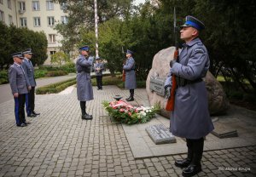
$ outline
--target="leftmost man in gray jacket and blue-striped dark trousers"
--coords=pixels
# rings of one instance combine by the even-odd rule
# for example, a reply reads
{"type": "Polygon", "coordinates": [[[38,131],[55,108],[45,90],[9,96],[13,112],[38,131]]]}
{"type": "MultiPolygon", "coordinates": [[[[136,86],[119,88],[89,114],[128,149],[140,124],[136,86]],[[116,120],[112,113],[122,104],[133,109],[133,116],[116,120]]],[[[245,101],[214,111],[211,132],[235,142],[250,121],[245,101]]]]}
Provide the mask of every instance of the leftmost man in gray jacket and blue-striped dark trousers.
{"type": "Polygon", "coordinates": [[[26,94],[31,89],[30,83],[26,77],[25,71],[21,67],[22,52],[12,54],[14,64],[9,67],[9,85],[15,99],[15,119],[18,127],[26,127],[29,122],[25,118],[25,100],[26,94]]]}

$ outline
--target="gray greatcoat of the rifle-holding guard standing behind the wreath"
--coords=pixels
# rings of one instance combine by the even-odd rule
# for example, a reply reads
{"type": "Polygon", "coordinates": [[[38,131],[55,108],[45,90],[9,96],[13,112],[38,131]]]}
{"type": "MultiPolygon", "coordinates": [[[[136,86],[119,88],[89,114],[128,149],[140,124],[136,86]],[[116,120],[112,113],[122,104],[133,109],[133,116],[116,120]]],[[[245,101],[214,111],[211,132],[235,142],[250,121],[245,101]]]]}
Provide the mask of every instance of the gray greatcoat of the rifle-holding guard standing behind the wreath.
{"type": "Polygon", "coordinates": [[[135,60],[130,57],[125,61],[125,88],[135,89],[136,88],[136,74],[135,74],[135,60]]]}

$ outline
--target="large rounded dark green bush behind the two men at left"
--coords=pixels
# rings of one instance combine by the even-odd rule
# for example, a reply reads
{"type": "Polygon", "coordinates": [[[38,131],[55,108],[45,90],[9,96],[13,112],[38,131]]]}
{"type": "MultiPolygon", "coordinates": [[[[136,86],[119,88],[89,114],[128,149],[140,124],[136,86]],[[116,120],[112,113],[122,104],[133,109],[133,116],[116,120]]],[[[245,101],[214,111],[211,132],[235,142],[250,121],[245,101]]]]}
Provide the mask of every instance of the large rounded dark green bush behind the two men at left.
{"type": "Polygon", "coordinates": [[[0,69],[6,69],[13,63],[10,54],[31,48],[33,65],[42,65],[47,59],[47,39],[44,32],[27,28],[6,26],[0,21],[0,69]]]}

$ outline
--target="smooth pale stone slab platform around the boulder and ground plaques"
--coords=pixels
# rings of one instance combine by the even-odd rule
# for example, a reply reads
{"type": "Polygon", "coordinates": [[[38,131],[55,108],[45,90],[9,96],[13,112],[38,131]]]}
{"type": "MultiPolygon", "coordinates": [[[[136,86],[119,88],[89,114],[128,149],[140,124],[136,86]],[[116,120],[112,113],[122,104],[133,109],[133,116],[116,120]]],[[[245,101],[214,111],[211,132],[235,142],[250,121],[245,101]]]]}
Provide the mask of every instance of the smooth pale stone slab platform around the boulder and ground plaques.
{"type": "MultiPolygon", "coordinates": [[[[146,96],[144,95],[144,97],[146,96]]],[[[145,100],[138,100],[138,102],[148,104],[148,102],[145,100]]],[[[217,119],[218,123],[224,123],[226,127],[236,129],[238,132],[238,137],[219,139],[213,134],[208,134],[205,141],[204,151],[243,146],[256,146],[255,111],[247,111],[240,107],[232,106],[231,110],[226,115],[219,116],[217,119]]],[[[166,128],[170,127],[170,120],[168,120],[166,117],[161,117],[160,115],[157,115],[156,118],[152,119],[148,123],[132,125],[132,128],[129,125],[123,124],[123,128],[134,157],[144,158],[166,156],[187,152],[186,142],[181,138],[176,137],[177,143],[163,145],[155,145],[152,140],[148,139],[148,134],[146,133],[145,128],[150,125],[160,123],[164,124],[166,128]],[[144,149],[147,149],[147,151],[144,151],[144,149]]]]}

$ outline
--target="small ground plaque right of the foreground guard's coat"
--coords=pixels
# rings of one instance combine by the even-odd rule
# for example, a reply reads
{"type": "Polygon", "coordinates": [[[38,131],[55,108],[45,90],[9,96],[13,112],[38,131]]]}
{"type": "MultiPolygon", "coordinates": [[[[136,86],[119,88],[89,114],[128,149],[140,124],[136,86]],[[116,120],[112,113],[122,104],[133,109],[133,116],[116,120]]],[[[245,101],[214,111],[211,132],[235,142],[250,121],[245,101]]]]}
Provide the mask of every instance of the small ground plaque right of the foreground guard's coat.
{"type": "Polygon", "coordinates": [[[214,129],[212,131],[212,134],[220,139],[238,136],[236,129],[230,128],[230,126],[219,122],[214,123],[214,129]]]}

